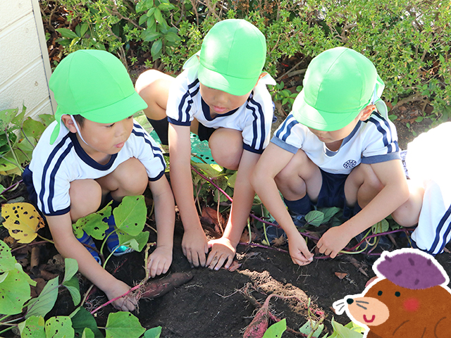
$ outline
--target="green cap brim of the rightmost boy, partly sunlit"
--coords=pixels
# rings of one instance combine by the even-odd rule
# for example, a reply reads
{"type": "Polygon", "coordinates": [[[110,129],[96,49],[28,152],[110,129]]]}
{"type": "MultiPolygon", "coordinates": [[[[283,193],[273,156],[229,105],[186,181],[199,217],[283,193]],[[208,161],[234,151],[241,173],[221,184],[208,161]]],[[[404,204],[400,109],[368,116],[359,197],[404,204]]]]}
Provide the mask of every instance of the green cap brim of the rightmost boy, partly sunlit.
{"type": "MultiPolygon", "coordinates": [[[[364,107],[362,107],[363,109],[364,107]]],[[[292,115],[297,122],[307,127],[324,132],[333,132],[349,125],[360,111],[350,111],[349,113],[331,113],[319,111],[307,104],[304,100],[304,90],[296,97],[292,108],[292,115]]]]}

